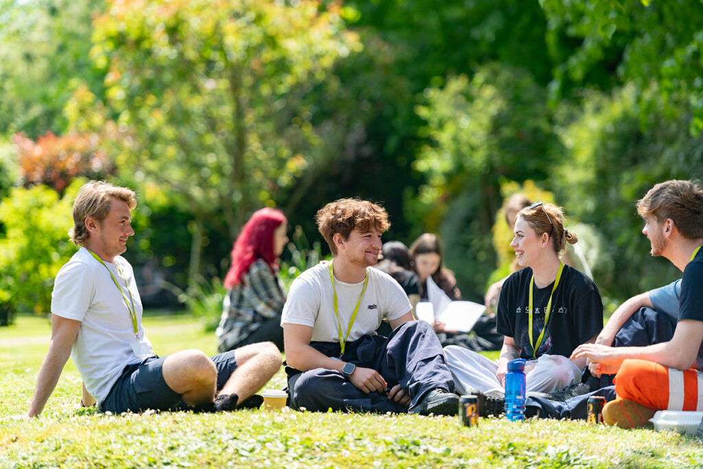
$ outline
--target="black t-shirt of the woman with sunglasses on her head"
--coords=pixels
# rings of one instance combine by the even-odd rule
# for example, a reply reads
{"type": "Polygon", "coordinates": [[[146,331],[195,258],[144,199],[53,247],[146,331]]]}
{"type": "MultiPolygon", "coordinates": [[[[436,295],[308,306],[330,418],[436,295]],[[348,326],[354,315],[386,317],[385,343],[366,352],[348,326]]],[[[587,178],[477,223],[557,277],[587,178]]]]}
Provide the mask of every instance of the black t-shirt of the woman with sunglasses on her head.
{"type": "MultiPolygon", "coordinates": [[[[529,282],[532,269],[512,274],[503,284],[498,301],[498,333],[515,340],[524,359],[532,358],[529,343],[529,282]]],[[[534,285],[532,334],[537,342],[544,326],[545,309],[554,283],[546,288],[534,285]]],[[[570,356],[574,349],[603,328],[603,304],[595,283],[571,266],[564,266],[552,297],[552,313],[537,356],[570,356]]]]}

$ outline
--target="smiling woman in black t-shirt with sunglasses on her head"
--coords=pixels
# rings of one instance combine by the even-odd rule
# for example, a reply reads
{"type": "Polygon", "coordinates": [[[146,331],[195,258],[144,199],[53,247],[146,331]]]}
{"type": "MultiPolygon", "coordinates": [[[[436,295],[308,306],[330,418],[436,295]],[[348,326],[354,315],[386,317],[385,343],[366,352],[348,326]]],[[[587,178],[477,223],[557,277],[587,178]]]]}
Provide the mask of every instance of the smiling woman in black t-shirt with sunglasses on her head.
{"type": "Polygon", "coordinates": [[[498,302],[498,333],[505,336],[498,364],[461,347],[444,353],[460,392],[501,392],[508,361],[529,360],[527,391],[553,392],[581,379],[585,359],[569,359],[602,329],[600,293],[593,281],[559,259],[576,233],[564,228],[562,210],[534,203],[518,212],[515,249],[522,270],[505,281],[498,302]]]}

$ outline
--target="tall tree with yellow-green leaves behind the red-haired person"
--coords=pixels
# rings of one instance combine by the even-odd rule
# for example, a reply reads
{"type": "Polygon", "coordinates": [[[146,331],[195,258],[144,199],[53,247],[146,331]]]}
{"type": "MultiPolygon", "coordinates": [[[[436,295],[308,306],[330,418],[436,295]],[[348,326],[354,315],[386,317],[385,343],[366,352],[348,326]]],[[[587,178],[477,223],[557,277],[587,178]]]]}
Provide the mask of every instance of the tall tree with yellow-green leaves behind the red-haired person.
{"type": "MultiPolygon", "coordinates": [[[[193,214],[193,279],[207,219],[223,214],[233,239],[316,163],[303,98],[357,43],[316,1],[111,1],[108,11],[91,57],[106,71],[117,165],[193,214]]],[[[71,113],[79,129],[94,125],[82,110],[95,103],[82,99],[71,113]]]]}

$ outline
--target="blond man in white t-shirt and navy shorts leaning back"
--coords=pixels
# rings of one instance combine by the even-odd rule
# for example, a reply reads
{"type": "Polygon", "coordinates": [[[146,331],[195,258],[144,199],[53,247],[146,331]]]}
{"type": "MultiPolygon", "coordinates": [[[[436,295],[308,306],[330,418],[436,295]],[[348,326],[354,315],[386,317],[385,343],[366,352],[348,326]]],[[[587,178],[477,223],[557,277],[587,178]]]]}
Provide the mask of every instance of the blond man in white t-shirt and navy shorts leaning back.
{"type": "Polygon", "coordinates": [[[153,354],[134,272],[121,256],[134,235],[134,207],[128,188],[90,181],[78,191],[69,234],[80,249],[54,282],[51,344],[27,416],[44,409],[69,354],[84,381],[82,405],[97,402],[98,409],[113,413],[255,406],[262,399],[252,394],[280,368],[280,352],[271,342],[212,357],[195,349],[153,354]]]}

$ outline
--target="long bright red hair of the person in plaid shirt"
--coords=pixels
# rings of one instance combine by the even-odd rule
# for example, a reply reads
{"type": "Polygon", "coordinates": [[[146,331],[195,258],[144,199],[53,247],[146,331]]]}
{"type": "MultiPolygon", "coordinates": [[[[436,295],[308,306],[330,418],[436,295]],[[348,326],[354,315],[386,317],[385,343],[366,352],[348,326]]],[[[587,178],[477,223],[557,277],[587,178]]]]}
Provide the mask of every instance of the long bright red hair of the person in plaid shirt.
{"type": "Polygon", "coordinates": [[[224,279],[225,288],[232,288],[242,282],[243,276],[257,259],[264,259],[271,271],[276,265],[273,252],[273,232],[285,221],[280,210],[262,208],[252,214],[232,248],[232,265],[224,279]]]}

